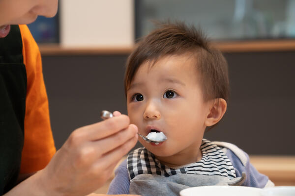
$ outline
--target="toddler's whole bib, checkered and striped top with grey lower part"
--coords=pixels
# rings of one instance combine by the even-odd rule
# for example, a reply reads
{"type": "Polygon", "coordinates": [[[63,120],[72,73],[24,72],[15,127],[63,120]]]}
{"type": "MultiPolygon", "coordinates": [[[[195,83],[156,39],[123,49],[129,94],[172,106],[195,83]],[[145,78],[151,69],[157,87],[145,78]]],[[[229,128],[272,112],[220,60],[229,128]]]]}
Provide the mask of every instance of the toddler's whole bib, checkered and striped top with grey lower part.
{"type": "Polygon", "coordinates": [[[128,154],[129,193],[142,196],[179,196],[182,189],[209,185],[239,185],[235,169],[220,147],[203,139],[202,159],[170,168],[159,162],[145,147],[128,154]]]}

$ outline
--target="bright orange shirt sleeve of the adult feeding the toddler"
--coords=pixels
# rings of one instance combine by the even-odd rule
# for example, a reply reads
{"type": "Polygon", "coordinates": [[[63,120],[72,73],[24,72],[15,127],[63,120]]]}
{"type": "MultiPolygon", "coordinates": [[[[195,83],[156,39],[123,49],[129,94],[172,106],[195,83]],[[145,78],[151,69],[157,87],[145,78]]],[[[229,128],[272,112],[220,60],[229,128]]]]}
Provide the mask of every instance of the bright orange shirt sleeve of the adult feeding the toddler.
{"type": "Polygon", "coordinates": [[[56,152],[49,120],[48,98],[42,73],[41,55],[27,25],[19,25],[27,73],[24,147],[19,178],[37,172],[56,152]]]}

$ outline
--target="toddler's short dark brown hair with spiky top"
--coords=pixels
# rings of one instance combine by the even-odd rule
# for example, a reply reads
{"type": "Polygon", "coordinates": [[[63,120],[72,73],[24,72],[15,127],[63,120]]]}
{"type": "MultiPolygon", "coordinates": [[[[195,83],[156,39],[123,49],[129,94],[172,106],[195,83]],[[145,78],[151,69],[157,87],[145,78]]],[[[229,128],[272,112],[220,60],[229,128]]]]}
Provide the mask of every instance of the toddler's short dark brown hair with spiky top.
{"type": "MultiPolygon", "coordinates": [[[[146,61],[151,66],[166,55],[189,53],[196,59],[205,100],[229,99],[228,64],[222,53],[212,47],[201,30],[184,23],[160,24],[144,37],[129,55],[126,63],[125,94],[138,68],[146,61]]],[[[127,95],[127,94],[126,94],[127,95]]]]}

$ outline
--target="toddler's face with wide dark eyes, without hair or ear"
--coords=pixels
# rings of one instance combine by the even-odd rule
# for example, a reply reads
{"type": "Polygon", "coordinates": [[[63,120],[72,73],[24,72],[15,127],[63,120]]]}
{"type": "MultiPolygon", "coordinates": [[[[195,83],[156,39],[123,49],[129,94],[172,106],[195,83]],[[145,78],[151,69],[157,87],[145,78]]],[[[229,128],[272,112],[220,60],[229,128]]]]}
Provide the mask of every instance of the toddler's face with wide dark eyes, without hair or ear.
{"type": "Polygon", "coordinates": [[[159,160],[200,153],[209,103],[203,99],[195,63],[189,55],[162,57],[153,67],[145,62],[127,90],[128,116],[139,133],[146,136],[155,129],[167,136],[159,145],[139,137],[159,160]]]}

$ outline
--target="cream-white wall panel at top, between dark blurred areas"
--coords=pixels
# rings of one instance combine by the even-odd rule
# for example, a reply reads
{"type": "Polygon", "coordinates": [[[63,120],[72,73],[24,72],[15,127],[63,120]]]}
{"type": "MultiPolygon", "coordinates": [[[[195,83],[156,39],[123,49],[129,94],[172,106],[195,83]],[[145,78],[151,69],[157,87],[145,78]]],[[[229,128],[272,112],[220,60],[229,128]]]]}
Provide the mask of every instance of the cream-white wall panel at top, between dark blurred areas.
{"type": "Polygon", "coordinates": [[[134,43],[133,0],[60,0],[62,47],[125,48],[134,43]]]}

